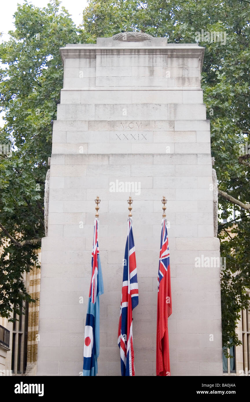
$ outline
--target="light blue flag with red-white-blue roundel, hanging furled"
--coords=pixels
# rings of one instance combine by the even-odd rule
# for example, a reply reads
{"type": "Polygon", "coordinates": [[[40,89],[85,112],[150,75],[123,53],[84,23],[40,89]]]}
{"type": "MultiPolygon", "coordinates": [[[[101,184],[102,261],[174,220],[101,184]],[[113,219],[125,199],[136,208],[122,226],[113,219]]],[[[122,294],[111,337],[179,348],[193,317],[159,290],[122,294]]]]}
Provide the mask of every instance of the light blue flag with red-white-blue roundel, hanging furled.
{"type": "Polygon", "coordinates": [[[102,267],[98,248],[99,219],[94,221],[94,240],[92,248],[92,275],[90,282],[88,308],[86,316],[84,351],[83,351],[83,375],[94,376],[97,374],[97,358],[100,349],[100,306],[99,295],[103,293],[102,267]]]}

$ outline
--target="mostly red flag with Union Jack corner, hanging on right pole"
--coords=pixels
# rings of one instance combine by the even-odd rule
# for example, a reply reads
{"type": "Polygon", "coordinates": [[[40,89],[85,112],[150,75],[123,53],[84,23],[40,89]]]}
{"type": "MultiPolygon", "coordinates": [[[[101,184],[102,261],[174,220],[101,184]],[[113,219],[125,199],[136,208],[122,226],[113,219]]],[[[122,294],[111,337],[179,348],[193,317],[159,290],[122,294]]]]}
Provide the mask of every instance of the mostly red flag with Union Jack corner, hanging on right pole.
{"type": "Polygon", "coordinates": [[[172,314],[170,257],[166,219],[162,219],[160,260],[158,270],[156,375],[170,375],[168,317],[172,314]]]}

